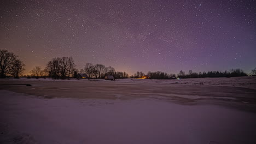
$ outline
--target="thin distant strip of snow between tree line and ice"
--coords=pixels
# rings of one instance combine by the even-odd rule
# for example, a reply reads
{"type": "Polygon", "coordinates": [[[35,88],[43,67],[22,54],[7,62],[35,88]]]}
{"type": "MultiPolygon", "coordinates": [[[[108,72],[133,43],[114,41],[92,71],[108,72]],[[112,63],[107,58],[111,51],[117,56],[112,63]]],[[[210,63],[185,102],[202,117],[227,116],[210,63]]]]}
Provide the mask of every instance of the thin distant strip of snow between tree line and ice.
{"type": "MultiPolygon", "coordinates": [[[[88,81],[88,79],[69,79],[69,80],[52,80],[52,79],[0,79],[1,81],[88,81]]],[[[104,79],[91,79],[91,81],[108,82],[104,79]]],[[[243,76],[243,77],[206,77],[196,79],[171,79],[171,80],[150,80],[150,79],[117,79],[116,82],[125,83],[165,83],[165,84],[183,84],[183,85],[209,85],[209,86],[230,86],[230,87],[244,87],[256,89],[256,76],[243,76]]]]}

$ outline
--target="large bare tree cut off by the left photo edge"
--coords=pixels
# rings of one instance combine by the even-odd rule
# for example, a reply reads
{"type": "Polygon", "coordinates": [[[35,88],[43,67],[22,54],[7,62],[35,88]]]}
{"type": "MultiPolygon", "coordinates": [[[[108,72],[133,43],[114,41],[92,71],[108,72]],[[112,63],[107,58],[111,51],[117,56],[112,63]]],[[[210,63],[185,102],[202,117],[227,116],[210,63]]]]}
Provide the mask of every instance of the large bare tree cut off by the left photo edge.
{"type": "Polygon", "coordinates": [[[13,52],[0,50],[0,78],[5,78],[6,74],[10,74],[16,62],[17,56],[13,52]]]}

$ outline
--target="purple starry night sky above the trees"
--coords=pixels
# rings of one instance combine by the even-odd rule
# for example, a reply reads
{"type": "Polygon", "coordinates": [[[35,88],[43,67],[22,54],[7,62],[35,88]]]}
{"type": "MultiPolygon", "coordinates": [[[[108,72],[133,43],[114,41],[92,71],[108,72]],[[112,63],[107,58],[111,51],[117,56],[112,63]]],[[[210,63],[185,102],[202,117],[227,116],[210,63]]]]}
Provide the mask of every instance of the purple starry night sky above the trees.
{"type": "Polygon", "coordinates": [[[0,49],[45,67],[72,56],[117,71],[178,73],[256,67],[255,1],[0,2],[0,49]]]}

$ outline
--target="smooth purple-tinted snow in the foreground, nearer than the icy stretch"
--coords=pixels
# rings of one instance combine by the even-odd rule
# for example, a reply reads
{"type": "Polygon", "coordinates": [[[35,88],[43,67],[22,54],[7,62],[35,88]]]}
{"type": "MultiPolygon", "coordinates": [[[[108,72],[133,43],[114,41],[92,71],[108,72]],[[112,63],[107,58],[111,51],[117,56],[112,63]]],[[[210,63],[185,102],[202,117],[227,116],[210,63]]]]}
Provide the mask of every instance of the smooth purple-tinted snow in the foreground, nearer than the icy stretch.
{"type": "MultiPolygon", "coordinates": [[[[254,113],[217,105],[0,93],[0,123],[11,127],[6,131],[39,143],[256,143],[254,113]]],[[[13,139],[3,136],[0,140],[13,139]]]]}

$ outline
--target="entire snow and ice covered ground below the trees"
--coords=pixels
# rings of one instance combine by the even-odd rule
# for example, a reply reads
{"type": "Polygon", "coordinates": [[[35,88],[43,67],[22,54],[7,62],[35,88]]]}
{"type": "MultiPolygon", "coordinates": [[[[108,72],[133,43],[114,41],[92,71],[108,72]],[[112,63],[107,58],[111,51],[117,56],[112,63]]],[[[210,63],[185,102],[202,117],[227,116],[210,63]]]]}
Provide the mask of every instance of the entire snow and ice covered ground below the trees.
{"type": "Polygon", "coordinates": [[[0,80],[0,143],[256,143],[255,86],[256,77],[0,80]]]}

